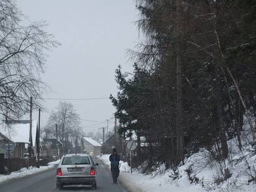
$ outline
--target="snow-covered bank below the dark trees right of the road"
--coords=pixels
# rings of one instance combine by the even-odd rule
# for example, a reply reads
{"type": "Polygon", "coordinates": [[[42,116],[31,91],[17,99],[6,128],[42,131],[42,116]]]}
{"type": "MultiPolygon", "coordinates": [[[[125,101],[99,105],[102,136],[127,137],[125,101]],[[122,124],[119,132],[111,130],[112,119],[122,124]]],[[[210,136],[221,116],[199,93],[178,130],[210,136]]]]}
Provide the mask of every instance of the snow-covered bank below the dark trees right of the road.
{"type": "MultiPolygon", "coordinates": [[[[185,164],[173,170],[163,171],[164,167],[144,175],[137,170],[130,173],[126,162],[120,162],[119,181],[131,191],[179,191],[179,192],[256,192],[256,155],[255,149],[250,145],[250,131],[245,128],[241,134],[242,151],[239,150],[237,138],[228,141],[229,158],[226,162],[218,162],[211,158],[210,152],[201,149],[185,160],[185,164]],[[231,173],[224,178],[224,170],[231,173]],[[159,173],[159,171],[161,173],[159,173]],[[173,179],[179,175],[175,180],[173,179]]],[[[110,166],[109,155],[99,157],[104,164],[110,166]]]]}

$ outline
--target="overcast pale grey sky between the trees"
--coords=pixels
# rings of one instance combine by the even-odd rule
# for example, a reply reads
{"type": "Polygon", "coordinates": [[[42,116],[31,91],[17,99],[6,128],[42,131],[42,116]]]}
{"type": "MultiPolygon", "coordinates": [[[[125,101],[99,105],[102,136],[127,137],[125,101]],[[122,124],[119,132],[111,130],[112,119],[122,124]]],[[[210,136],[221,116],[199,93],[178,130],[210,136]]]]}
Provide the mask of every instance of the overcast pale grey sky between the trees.
{"type": "MultiPolygon", "coordinates": [[[[54,92],[43,97],[95,98],[117,93],[118,64],[123,71],[133,70],[126,50],[138,42],[134,0],[17,0],[17,4],[30,20],[46,20],[45,30],[62,43],[49,53],[42,80],[54,92]]],[[[45,100],[45,107],[51,111],[58,102],[45,100]]],[[[105,121],[115,111],[108,99],[72,103],[86,120],[105,121]]],[[[43,113],[42,126],[47,118],[43,113]]],[[[82,121],[82,126],[88,133],[106,123],[82,121]]]]}

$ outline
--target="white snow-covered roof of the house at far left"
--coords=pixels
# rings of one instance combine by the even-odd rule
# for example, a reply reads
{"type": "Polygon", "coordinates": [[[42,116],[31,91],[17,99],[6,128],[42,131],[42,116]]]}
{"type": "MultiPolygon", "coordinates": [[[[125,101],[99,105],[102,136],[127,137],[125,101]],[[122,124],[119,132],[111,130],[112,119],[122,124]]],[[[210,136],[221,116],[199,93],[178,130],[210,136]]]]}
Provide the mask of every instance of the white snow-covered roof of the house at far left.
{"type": "MultiPolygon", "coordinates": [[[[29,123],[12,123],[7,125],[2,123],[0,125],[0,133],[11,139],[12,142],[29,142],[29,123]]],[[[32,121],[32,141],[33,146],[35,145],[35,139],[37,134],[37,120],[32,121]]]]}

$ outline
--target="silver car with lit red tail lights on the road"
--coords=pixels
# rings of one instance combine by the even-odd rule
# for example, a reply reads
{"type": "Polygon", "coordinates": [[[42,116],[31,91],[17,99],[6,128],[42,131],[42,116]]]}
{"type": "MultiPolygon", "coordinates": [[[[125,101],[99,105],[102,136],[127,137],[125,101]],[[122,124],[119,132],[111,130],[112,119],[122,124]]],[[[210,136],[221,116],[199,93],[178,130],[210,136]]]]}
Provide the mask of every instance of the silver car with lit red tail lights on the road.
{"type": "Polygon", "coordinates": [[[64,185],[92,185],[96,189],[96,168],[87,154],[66,154],[60,160],[56,171],[56,187],[64,185]]]}

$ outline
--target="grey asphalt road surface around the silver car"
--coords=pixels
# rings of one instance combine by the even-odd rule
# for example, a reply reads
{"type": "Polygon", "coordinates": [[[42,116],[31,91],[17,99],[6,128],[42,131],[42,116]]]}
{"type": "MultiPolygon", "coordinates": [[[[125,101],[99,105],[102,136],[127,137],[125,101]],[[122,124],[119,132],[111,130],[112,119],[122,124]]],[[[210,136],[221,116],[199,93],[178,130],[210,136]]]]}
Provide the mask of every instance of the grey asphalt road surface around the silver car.
{"type": "MultiPolygon", "coordinates": [[[[94,162],[98,162],[97,167],[97,190],[96,191],[111,191],[111,192],[123,192],[119,185],[112,184],[112,178],[108,168],[102,164],[100,160],[94,159],[94,162]]],[[[40,173],[35,173],[23,178],[17,178],[13,180],[0,183],[0,191],[14,192],[14,191],[60,191],[56,189],[56,168],[51,168],[40,173]]],[[[76,187],[64,187],[61,191],[94,191],[90,187],[84,188],[84,186],[76,187]]]]}

